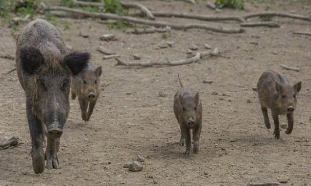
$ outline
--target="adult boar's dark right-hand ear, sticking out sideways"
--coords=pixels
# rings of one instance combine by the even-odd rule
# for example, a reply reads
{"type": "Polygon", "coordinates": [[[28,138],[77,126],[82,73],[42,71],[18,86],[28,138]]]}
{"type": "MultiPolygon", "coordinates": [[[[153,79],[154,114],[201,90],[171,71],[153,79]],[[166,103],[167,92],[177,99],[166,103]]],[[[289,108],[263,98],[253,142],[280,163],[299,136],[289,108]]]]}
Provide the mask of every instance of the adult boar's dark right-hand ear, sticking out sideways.
{"type": "Polygon", "coordinates": [[[64,62],[76,76],[87,66],[89,59],[90,53],[72,52],[65,56],[64,62]]]}

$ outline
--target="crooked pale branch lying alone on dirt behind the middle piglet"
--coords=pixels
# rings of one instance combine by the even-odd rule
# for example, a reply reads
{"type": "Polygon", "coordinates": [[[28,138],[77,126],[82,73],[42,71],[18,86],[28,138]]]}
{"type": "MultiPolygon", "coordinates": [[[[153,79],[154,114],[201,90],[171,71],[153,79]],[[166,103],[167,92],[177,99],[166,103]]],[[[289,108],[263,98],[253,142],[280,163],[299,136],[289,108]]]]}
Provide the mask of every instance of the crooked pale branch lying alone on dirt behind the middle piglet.
{"type": "Polygon", "coordinates": [[[196,53],[195,56],[191,57],[191,58],[188,58],[188,59],[182,59],[182,60],[179,60],[179,61],[167,61],[167,62],[152,62],[152,61],[149,61],[149,62],[136,62],[136,61],[133,61],[133,62],[124,62],[124,61],[121,61],[119,58],[115,58],[115,60],[117,61],[117,64],[116,66],[118,65],[122,65],[122,66],[139,66],[139,67],[152,67],[152,66],[177,66],[177,65],[185,65],[185,64],[190,64],[190,63],[193,63],[193,62],[197,62],[199,61],[202,57],[204,56],[207,56],[207,55],[216,55],[218,54],[218,49],[215,48],[213,51],[204,51],[204,52],[201,52],[201,53],[196,53]]]}

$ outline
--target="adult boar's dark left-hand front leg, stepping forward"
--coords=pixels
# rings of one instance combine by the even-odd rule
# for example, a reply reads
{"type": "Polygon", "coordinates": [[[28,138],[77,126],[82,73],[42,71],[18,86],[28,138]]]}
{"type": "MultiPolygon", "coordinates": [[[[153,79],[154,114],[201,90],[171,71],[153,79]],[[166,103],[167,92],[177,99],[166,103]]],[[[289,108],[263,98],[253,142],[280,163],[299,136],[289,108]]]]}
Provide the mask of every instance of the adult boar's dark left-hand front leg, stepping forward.
{"type": "Polygon", "coordinates": [[[41,121],[32,113],[32,103],[27,99],[26,113],[29,124],[29,131],[31,136],[31,158],[32,168],[35,174],[43,173],[44,171],[44,152],[43,152],[43,138],[44,133],[41,121]]]}

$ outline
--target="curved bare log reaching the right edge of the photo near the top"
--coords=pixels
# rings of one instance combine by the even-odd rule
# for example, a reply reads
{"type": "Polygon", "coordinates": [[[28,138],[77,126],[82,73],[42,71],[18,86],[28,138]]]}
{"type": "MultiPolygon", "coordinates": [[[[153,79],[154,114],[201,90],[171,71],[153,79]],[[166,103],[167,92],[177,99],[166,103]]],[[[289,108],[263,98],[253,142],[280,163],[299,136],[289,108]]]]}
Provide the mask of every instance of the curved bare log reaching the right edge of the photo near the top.
{"type": "Polygon", "coordinates": [[[302,16],[297,14],[287,14],[283,12],[259,12],[259,13],[250,13],[242,16],[245,20],[253,18],[253,17],[260,17],[260,16],[278,16],[278,17],[285,17],[291,19],[298,19],[311,22],[311,17],[302,16]]]}

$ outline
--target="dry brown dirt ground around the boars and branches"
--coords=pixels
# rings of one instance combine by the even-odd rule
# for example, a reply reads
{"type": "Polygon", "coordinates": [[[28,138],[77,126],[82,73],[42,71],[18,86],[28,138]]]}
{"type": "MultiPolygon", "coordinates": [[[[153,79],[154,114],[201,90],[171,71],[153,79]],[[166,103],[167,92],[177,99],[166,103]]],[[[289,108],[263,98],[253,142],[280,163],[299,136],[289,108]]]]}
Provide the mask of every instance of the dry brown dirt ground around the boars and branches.
{"type": "MultiPolygon", "coordinates": [[[[205,7],[183,1],[141,1],[153,10],[215,14],[205,7]]],[[[272,10],[310,15],[308,0],[253,0],[244,11],[225,9],[219,14],[243,14],[272,10]]],[[[0,138],[16,136],[23,142],[16,148],[0,150],[0,185],[8,186],[246,186],[249,182],[277,181],[289,177],[284,186],[311,185],[311,37],[292,31],[310,30],[310,23],[274,18],[281,28],[247,28],[241,34],[221,34],[204,30],[172,30],[167,39],[161,33],[134,35],[108,29],[96,20],[66,19],[69,29],[60,29],[73,49],[89,51],[92,61],[103,67],[102,92],[91,121],[82,122],[77,101],[61,137],[61,168],[35,175],[32,170],[30,136],[25,115],[25,97],[16,72],[0,75],[0,138]],[[79,32],[89,38],[82,38],[79,32]],[[115,33],[118,40],[103,42],[98,38],[115,33]],[[172,48],[157,50],[159,43],[173,41],[172,48]],[[258,45],[254,45],[257,42],[258,45]],[[103,60],[98,46],[132,60],[169,60],[186,57],[193,43],[218,47],[222,56],[206,57],[198,63],[174,67],[125,68],[114,66],[113,59],[103,60]],[[279,65],[300,67],[300,72],[283,70],[279,65]],[[263,115],[252,90],[263,71],[275,69],[291,82],[302,80],[294,129],[281,131],[274,139],[273,130],[264,127],[263,115]],[[192,158],[183,155],[179,146],[180,130],[173,114],[173,96],[180,88],[177,73],[184,85],[200,91],[203,104],[203,129],[200,153],[192,158]],[[203,80],[214,80],[203,83],[203,80]],[[164,91],[167,97],[159,97],[164,91]],[[212,92],[217,91],[217,95],[212,92]],[[249,101],[250,100],[250,103],[249,101]],[[146,158],[142,172],[129,172],[118,163],[146,158]]],[[[158,18],[175,23],[198,22],[187,19],[158,18]]],[[[203,23],[203,22],[202,22],[203,23]]],[[[209,23],[208,23],[209,24],[209,23]]],[[[217,25],[215,23],[210,23],[217,25]]],[[[236,23],[222,23],[239,27],[236,23]]],[[[0,26],[0,48],[15,53],[15,40],[7,26],[0,26]]],[[[1,73],[14,68],[14,62],[0,59],[1,73]]],[[[271,120],[271,118],[270,118],[271,120]]],[[[286,123],[281,117],[281,124],[286,123]]],[[[273,124],[272,124],[273,126],[273,124]]]]}

